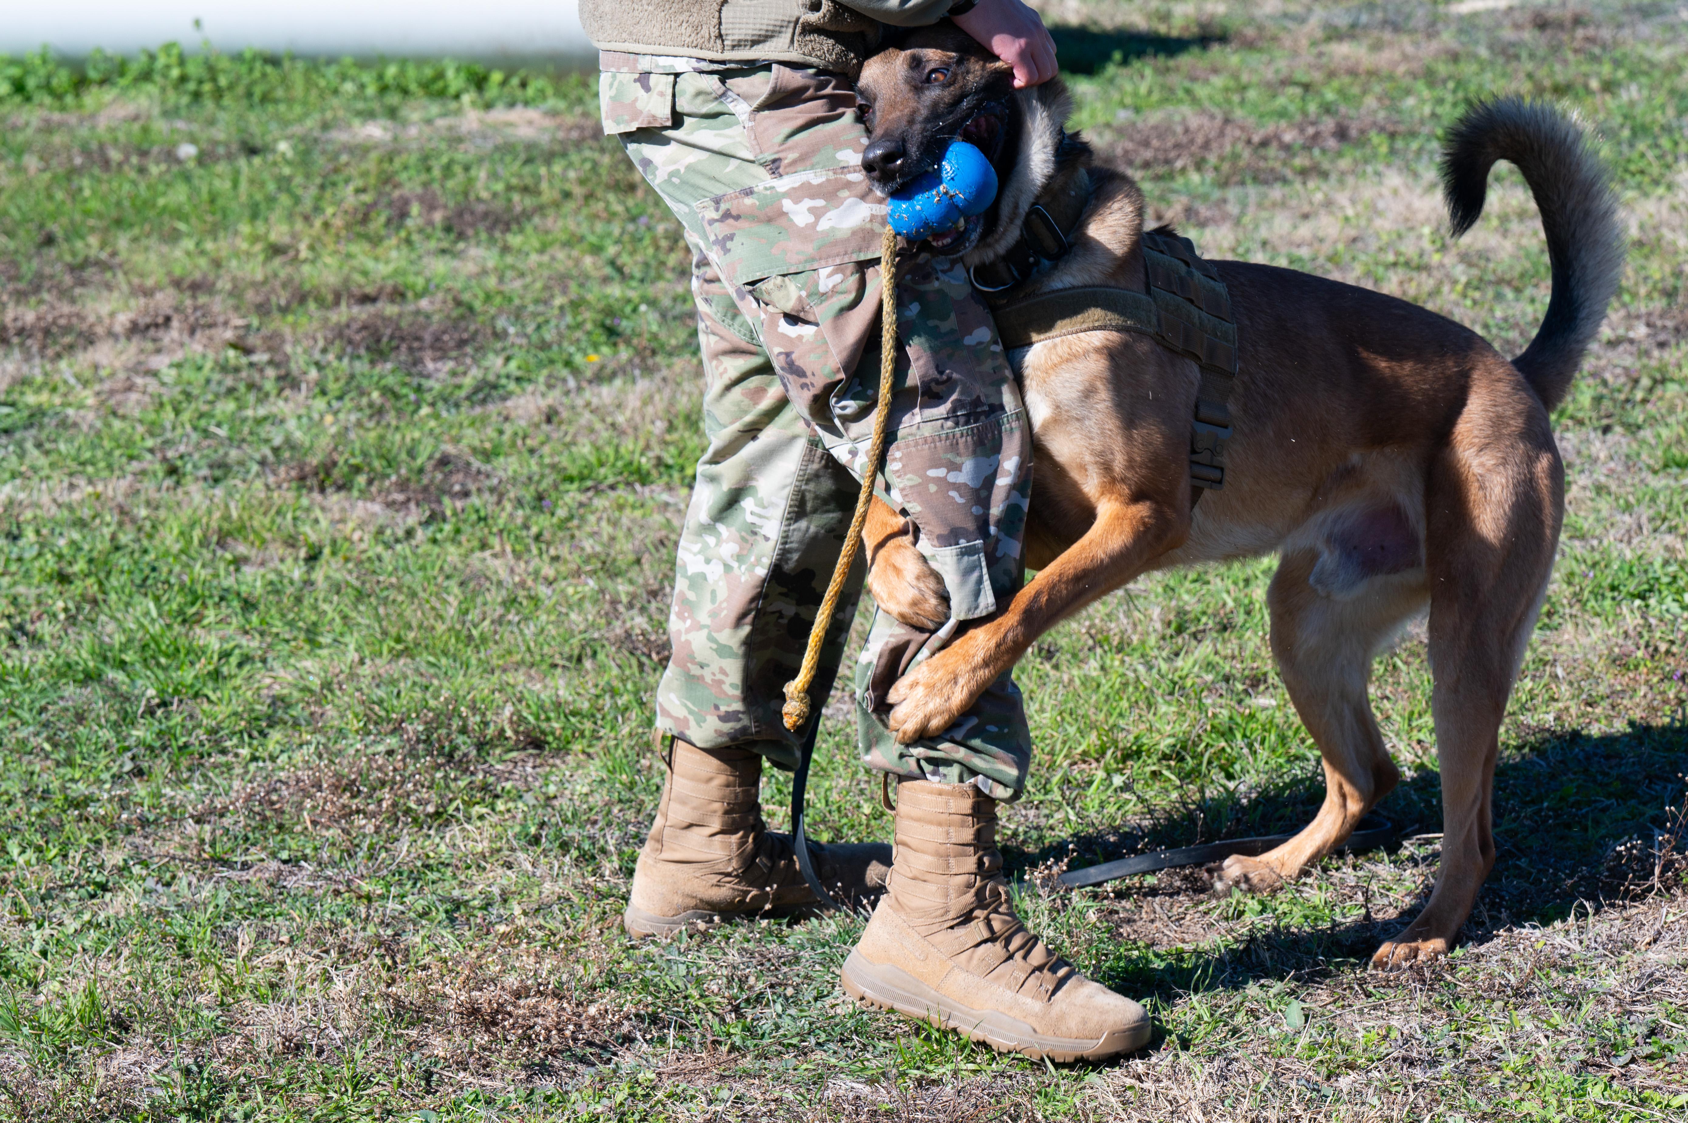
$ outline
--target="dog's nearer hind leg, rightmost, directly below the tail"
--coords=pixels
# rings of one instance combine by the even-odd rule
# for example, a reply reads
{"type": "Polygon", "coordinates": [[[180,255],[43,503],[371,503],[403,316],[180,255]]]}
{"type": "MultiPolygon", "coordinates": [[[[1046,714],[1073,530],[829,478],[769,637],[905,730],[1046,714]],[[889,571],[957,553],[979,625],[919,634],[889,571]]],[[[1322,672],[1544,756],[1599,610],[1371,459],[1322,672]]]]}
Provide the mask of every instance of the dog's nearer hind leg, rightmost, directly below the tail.
{"type": "Polygon", "coordinates": [[[1442,868],[1423,912],[1372,956],[1376,968],[1445,954],[1494,865],[1491,795],[1501,718],[1565,510],[1565,471],[1546,410],[1511,366],[1499,378],[1474,380],[1463,415],[1431,466],[1425,508],[1442,868]]]}

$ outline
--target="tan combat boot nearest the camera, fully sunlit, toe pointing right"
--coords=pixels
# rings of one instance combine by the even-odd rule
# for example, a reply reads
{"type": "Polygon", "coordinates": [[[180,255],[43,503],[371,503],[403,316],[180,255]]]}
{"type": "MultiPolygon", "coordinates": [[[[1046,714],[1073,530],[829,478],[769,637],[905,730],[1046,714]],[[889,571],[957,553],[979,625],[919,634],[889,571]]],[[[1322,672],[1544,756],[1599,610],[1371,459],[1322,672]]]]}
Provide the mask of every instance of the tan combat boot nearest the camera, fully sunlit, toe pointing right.
{"type": "Polygon", "coordinates": [[[846,993],[1036,1061],[1141,1049],[1148,1012],[1028,932],[1001,870],[994,799],[972,784],[900,784],[890,890],[844,963],[846,993]]]}

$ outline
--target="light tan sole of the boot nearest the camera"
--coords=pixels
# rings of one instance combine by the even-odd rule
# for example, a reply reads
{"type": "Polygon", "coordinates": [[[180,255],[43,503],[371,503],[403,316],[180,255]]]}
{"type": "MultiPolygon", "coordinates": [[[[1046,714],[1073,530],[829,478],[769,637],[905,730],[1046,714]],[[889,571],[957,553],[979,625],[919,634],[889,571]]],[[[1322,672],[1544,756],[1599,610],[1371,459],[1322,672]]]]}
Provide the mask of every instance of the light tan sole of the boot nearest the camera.
{"type": "Polygon", "coordinates": [[[999,1010],[964,1006],[932,990],[908,971],[888,963],[873,963],[854,951],[844,961],[842,983],[846,995],[869,1006],[895,1010],[918,1022],[955,1030],[998,1052],[1018,1052],[1033,1061],[1048,1059],[1060,1064],[1107,1061],[1143,1049],[1155,1028],[1144,1018],[1138,1025],[1112,1030],[1097,1040],[1038,1033],[1020,1018],[1011,1018],[999,1010]]]}

